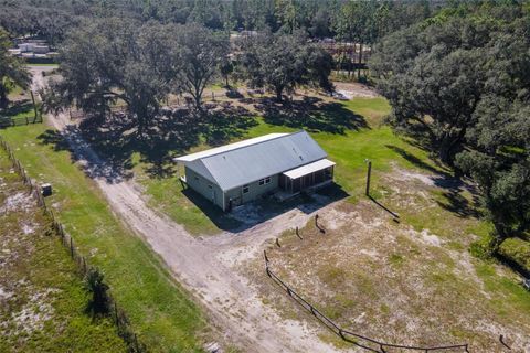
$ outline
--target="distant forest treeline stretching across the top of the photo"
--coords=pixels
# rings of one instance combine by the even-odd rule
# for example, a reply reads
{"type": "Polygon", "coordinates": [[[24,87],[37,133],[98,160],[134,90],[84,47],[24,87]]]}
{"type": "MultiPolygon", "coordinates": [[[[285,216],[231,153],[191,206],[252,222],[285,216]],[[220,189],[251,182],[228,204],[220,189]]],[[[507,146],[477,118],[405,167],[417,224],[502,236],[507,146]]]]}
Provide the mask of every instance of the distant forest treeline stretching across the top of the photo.
{"type": "Polygon", "coordinates": [[[311,38],[375,38],[424,20],[439,6],[414,0],[3,0],[0,25],[12,35],[40,35],[52,44],[86,18],[198,23],[212,30],[268,30],[311,38]],[[354,32],[352,32],[352,30],[354,32]],[[348,34],[348,35],[346,35],[348,34]]]}

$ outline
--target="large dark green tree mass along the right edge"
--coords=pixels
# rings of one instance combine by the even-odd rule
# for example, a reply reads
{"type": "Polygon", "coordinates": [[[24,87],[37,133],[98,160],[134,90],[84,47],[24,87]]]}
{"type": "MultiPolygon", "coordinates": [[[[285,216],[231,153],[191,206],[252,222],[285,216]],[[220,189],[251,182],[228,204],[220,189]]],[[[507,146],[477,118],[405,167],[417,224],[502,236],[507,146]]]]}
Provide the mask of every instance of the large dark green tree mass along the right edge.
{"type": "Polygon", "coordinates": [[[530,231],[530,13],[511,4],[442,11],[384,38],[371,61],[395,130],[478,184],[495,233],[530,231]],[[507,11],[499,11],[505,9],[507,11]]]}

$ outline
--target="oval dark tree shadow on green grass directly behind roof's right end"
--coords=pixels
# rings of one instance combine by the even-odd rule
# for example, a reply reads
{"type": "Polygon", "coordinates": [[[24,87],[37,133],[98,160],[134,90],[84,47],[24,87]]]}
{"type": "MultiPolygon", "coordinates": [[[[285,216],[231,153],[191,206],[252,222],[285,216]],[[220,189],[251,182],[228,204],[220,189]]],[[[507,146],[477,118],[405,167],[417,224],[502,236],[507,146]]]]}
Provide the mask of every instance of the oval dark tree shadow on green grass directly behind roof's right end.
{"type": "Polygon", "coordinates": [[[335,101],[316,97],[278,104],[273,98],[263,98],[256,109],[272,125],[304,128],[311,132],[346,133],[347,130],[369,128],[365,119],[335,101]]]}

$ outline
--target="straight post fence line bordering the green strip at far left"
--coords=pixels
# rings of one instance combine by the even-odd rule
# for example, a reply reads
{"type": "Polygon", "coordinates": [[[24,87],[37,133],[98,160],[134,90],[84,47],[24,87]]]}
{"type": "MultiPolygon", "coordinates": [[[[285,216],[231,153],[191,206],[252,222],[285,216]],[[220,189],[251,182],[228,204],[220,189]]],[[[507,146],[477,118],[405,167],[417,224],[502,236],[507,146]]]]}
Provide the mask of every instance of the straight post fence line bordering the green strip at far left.
{"type": "MultiPolygon", "coordinates": [[[[75,242],[66,232],[64,232],[63,225],[57,221],[53,211],[46,205],[45,199],[42,194],[41,186],[34,182],[25,172],[24,168],[21,165],[20,161],[14,157],[11,148],[6,143],[6,141],[0,137],[0,147],[6,150],[8,157],[13,165],[15,172],[23,179],[25,185],[28,185],[30,193],[35,197],[36,203],[40,207],[43,208],[44,214],[50,217],[52,222],[52,227],[57,236],[61,237],[62,244],[70,250],[72,259],[76,263],[80,275],[85,278],[85,276],[92,270],[100,272],[96,267],[89,266],[85,256],[83,256],[75,246],[75,242]]],[[[107,285],[103,285],[105,288],[109,288],[107,285]]],[[[145,344],[138,341],[137,334],[132,331],[129,319],[125,311],[118,307],[118,303],[114,299],[113,295],[106,292],[106,311],[107,314],[113,319],[114,323],[117,327],[118,335],[127,344],[128,352],[130,353],[144,353],[147,352],[145,344]]]]}

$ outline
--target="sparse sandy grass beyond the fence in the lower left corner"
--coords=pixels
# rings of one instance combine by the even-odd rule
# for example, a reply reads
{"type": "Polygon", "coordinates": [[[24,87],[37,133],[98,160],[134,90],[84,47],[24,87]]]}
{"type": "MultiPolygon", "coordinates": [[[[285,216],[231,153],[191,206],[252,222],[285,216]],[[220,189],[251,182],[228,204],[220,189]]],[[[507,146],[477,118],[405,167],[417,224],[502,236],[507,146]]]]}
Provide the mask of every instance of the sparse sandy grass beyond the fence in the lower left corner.
{"type": "Polygon", "coordinates": [[[125,352],[92,319],[77,266],[0,150],[0,352],[125,352]]]}

